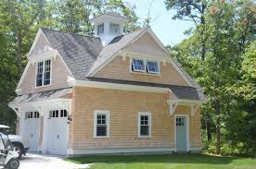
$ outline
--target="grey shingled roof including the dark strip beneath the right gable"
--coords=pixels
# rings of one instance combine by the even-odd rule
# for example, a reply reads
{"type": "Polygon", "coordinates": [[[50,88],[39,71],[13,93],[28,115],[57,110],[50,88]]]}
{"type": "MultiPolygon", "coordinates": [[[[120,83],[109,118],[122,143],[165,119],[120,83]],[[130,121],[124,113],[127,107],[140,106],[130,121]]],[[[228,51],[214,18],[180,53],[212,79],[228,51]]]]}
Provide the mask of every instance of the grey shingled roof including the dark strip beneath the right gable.
{"type": "Polygon", "coordinates": [[[158,83],[129,81],[122,79],[107,79],[107,78],[92,78],[89,74],[94,72],[98,66],[101,66],[112,55],[117,54],[122,48],[124,48],[130,42],[146,32],[146,29],[136,30],[132,33],[127,33],[118,37],[115,37],[105,47],[102,45],[99,38],[89,37],[80,34],[74,34],[69,32],[62,32],[58,30],[46,30],[42,29],[46,39],[50,43],[51,47],[58,50],[58,53],[63,58],[65,64],[69,67],[72,76],[78,80],[97,80],[111,83],[132,84],[141,86],[156,86],[162,88],[171,89],[179,99],[189,100],[205,100],[206,97],[203,94],[202,89],[198,84],[186,74],[180,64],[173,59],[175,65],[177,65],[186,78],[191,82],[193,87],[175,86],[158,83]]]}

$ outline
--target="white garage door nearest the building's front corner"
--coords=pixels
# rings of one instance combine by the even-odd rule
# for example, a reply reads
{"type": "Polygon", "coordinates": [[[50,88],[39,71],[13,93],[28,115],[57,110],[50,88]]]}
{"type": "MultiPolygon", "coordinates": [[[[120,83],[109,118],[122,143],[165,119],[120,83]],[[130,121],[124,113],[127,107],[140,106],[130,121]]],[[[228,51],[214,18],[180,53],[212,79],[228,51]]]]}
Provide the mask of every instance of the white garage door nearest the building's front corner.
{"type": "Polygon", "coordinates": [[[54,110],[49,112],[47,153],[66,155],[68,139],[68,112],[54,110]]]}

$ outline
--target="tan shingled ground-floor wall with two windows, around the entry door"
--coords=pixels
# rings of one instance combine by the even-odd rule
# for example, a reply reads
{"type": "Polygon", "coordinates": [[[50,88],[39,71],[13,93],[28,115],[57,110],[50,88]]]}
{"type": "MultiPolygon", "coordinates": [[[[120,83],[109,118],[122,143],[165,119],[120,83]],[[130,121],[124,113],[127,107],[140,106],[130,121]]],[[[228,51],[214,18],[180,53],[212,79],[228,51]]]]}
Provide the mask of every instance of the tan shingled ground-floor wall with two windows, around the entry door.
{"type": "MultiPolygon", "coordinates": [[[[174,115],[168,114],[168,94],[118,91],[75,87],[73,91],[72,122],[69,149],[174,147],[174,115]],[[94,139],[94,111],[110,112],[108,139],[94,139]],[[152,138],[137,137],[138,112],[150,111],[152,138]]],[[[186,106],[179,106],[179,114],[187,114],[186,106]]],[[[190,138],[193,147],[201,145],[199,112],[190,118],[190,138]]]]}

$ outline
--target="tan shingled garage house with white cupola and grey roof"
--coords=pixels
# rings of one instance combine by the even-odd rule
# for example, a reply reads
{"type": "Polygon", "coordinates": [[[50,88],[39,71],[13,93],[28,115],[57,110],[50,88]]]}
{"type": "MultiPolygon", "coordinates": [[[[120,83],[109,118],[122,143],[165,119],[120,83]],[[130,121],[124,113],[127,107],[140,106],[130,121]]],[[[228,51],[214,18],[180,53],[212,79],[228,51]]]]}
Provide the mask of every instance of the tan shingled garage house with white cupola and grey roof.
{"type": "Polygon", "coordinates": [[[90,20],[95,37],[38,31],[9,103],[30,151],[59,155],[200,151],[205,96],[149,28],[90,20]]]}

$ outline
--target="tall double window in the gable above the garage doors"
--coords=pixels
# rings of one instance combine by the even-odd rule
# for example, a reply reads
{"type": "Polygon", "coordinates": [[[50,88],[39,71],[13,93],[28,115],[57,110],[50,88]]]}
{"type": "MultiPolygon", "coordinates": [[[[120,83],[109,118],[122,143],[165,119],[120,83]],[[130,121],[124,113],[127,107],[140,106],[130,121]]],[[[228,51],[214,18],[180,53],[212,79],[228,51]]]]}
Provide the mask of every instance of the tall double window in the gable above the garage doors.
{"type": "Polygon", "coordinates": [[[51,60],[37,63],[36,87],[51,83],[51,60]]]}

